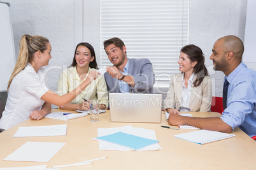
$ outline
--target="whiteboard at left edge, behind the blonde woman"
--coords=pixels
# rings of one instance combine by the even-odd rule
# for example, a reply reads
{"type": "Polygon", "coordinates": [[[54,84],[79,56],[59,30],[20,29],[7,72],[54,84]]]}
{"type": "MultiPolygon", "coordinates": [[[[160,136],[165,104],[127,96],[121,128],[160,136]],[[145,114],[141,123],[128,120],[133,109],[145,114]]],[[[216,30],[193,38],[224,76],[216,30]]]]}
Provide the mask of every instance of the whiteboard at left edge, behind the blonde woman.
{"type": "Polygon", "coordinates": [[[7,91],[15,62],[10,4],[0,2],[0,91],[7,91]]]}

